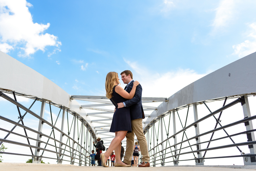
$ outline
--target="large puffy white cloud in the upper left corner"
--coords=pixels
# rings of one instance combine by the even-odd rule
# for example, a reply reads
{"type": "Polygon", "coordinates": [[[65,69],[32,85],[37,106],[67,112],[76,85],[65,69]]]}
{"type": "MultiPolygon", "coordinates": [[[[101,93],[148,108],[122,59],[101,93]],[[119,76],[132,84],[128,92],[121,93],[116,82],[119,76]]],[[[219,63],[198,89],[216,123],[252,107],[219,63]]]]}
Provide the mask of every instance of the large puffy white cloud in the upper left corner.
{"type": "Polygon", "coordinates": [[[30,57],[38,50],[44,52],[46,46],[55,46],[55,50],[48,55],[60,51],[61,42],[58,41],[58,37],[43,33],[50,27],[50,23],[33,22],[28,9],[32,6],[26,0],[2,0],[0,2],[0,42],[9,45],[4,49],[5,52],[17,48],[21,50],[18,53],[20,57],[30,57]]]}

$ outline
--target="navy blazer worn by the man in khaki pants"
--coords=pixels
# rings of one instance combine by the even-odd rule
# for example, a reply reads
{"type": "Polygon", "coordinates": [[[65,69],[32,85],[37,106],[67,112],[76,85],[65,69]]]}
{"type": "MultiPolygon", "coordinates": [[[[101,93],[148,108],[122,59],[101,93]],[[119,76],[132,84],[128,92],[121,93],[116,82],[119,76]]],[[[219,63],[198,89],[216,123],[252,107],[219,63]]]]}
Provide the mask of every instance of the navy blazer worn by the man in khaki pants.
{"type": "MultiPolygon", "coordinates": [[[[126,91],[128,93],[130,93],[132,88],[133,88],[133,82],[134,81],[132,81],[129,84],[129,86],[126,88],[126,91]]],[[[143,106],[142,106],[142,102],[141,102],[141,95],[142,95],[142,87],[139,84],[136,87],[134,97],[131,100],[127,100],[127,101],[124,102],[126,107],[130,106],[131,120],[140,119],[140,118],[144,119],[145,118],[144,111],[143,111],[143,106]]]]}

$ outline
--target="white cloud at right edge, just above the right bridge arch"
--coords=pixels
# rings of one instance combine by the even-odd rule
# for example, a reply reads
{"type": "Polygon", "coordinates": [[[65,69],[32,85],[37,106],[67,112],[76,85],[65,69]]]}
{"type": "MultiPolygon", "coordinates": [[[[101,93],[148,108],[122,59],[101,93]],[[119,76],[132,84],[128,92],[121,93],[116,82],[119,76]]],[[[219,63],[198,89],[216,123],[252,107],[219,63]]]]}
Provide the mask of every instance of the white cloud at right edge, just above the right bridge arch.
{"type": "Polygon", "coordinates": [[[238,55],[239,58],[256,52],[256,23],[250,24],[249,27],[251,28],[251,33],[248,37],[251,38],[251,41],[245,40],[240,44],[233,45],[233,49],[235,50],[233,55],[238,55]]]}

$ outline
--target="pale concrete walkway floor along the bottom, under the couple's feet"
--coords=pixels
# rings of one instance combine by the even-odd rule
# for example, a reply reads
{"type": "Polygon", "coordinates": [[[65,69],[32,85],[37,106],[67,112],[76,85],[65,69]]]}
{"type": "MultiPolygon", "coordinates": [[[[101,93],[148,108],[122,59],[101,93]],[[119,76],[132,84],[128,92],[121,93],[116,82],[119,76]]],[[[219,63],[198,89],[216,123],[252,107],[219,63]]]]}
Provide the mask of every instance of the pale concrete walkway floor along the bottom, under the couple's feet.
{"type": "Polygon", "coordinates": [[[101,166],[73,166],[67,164],[36,164],[36,163],[0,163],[1,171],[8,170],[19,170],[19,171],[95,171],[95,170],[122,170],[122,171],[250,171],[256,170],[256,166],[165,166],[165,167],[101,167],[101,166]]]}

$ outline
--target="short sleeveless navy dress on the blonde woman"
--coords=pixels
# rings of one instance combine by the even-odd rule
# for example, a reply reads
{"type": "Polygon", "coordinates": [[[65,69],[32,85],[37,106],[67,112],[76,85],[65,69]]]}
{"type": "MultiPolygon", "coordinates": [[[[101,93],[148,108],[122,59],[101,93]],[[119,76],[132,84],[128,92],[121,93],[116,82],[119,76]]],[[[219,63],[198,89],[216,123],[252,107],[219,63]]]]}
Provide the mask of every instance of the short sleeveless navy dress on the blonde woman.
{"type": "Polygon", "coordinates": [[[130,107],[122,107],[119,109],[117,108],[118,107],[117,103],[123,103],[127,99],[120,96],[115,91],[115,87],[113,88],[112,98],[110,99],[110,101],[116,107],[116,112],[114,112],[114,115],[113,115],[110,132],[117,132],[117,131],[132,132],[130,107]]]}

